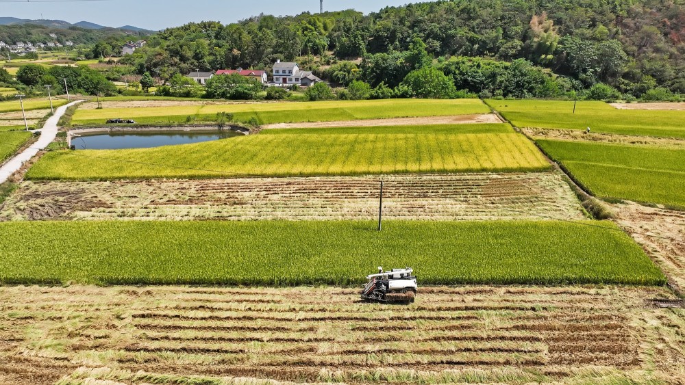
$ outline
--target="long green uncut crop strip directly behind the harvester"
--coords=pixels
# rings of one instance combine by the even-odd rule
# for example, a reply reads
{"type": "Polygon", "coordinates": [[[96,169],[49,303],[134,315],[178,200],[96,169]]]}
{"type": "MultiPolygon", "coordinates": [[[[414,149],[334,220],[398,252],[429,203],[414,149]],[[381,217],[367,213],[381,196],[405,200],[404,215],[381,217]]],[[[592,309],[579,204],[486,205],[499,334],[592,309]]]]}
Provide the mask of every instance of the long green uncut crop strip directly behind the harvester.
{"type": "Polygon", "coordinates": [[[421,284],[665,283],[604,222],[6,222],[0,250],[3,283],[360,284],[379,265],[421,284]]]}

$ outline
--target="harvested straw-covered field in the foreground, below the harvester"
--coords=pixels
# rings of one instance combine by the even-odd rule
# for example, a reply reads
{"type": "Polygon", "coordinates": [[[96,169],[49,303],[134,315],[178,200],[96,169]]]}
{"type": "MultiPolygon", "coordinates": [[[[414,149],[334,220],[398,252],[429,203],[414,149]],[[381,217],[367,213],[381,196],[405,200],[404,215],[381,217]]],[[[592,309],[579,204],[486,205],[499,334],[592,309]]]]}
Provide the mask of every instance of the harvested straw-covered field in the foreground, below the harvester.
{"type": "Polygon", "coordinates": [[[685,310],[662,307],[676,300],[634,287],[425,287],[411,306],[334,287],[3,287],[0,382],[677,383],[685,310]]]}

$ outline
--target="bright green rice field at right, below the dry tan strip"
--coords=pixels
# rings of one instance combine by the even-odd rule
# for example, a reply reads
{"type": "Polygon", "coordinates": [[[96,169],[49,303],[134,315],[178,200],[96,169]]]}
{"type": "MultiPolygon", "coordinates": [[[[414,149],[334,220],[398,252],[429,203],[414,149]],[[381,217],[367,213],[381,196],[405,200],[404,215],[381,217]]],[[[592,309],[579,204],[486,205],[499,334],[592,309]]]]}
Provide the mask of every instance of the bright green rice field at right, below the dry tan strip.
{"type": "Polygon", "coordinates": [[[685,149],[537,142],[595,196],[685,208],[685,149]]]}

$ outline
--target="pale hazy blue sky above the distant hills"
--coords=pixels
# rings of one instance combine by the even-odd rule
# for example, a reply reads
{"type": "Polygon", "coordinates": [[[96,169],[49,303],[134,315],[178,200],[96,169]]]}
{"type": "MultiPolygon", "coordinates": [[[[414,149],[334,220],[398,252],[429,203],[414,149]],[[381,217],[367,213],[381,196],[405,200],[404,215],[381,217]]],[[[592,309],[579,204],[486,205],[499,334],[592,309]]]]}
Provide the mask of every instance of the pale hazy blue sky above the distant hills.
{"type": "MultiPolygon", "coordinates": [[[[417,0],[324,0],[325,10],[354,8],[367,14],[388,5],[403,5],[417,0]]],[[[420,1],[418,1],[420,2],[420,1]]],[[[54,1],[43,3],[0,1],[0,16],[38,19],[49,18],[76,23],[90,21],[108,27],[134,25],[147,29],[164,29],[189,21],[232,23],[260,13],[292,15],[319,12],[318,0],[104,0],[54,1]]]]}

